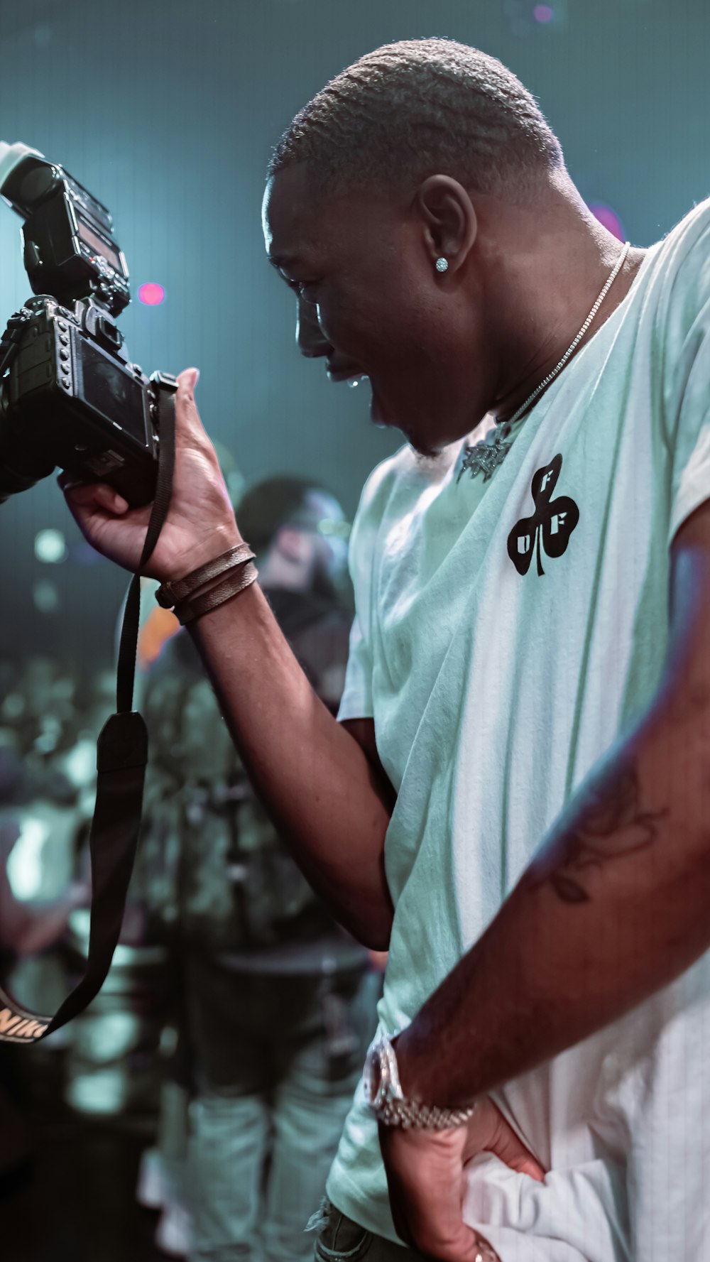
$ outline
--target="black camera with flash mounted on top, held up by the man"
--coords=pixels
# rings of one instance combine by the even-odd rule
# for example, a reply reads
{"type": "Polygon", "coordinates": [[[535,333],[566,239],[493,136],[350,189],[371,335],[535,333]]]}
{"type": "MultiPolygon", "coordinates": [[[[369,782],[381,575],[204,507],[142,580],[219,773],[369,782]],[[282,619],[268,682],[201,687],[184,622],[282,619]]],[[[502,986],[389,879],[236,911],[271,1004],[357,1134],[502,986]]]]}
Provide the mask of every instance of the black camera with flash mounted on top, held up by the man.
{"type": "Polygon", "coordinates": [[[35,294],[0,339],[0,502],[59,466],[137,507],[155,495],[158,398],[169,374],[131,363],[116,318],[131,300],[108,209],[62,167],[0,141],[0,196],[24,220],[35,294]]]}

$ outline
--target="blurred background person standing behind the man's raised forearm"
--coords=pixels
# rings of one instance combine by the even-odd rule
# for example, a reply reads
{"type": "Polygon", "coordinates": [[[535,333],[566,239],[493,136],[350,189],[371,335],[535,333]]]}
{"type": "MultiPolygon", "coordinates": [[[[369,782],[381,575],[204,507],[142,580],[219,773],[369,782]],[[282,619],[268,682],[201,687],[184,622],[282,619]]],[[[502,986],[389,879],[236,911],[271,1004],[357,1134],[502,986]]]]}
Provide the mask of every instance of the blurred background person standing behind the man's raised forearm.
{"type": "MultiPolygon", "coordinates": [[[[281,477],[250,490],[240,516],[279,623],[335,713],[352,621],[343,511],[281,477]]],[[[143,708],[150,765],[134,886],[172,941],[182,1003],[156,1241],[178,1253],[192,1235],[194,1262],[296,1262],[313,1248],[304,1225],[375,1029],[378,978],[257,801],[184,632],[150,670],[143,708]],[[183,1172],[180,1080],[193,1095],[183,1172]]]]}

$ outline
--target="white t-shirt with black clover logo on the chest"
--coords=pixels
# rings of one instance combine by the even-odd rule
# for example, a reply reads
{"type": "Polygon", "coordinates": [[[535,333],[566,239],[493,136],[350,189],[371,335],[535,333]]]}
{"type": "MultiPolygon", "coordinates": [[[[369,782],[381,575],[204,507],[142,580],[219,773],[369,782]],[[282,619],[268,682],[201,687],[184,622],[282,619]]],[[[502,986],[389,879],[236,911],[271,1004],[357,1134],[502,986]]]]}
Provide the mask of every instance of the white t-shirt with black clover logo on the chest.
{"type": "MultiPolygon", "coordinates": [[[[340,718],[375,719],[397,790],[388,1032],[479,938],[653,699],[668,545],[710,497],[709,382],[704,202],[648,250],[488,482],[457,481],[459,444],[435,459],[405,447],[368,480],[340,718]]],[[[496,1098],[551,1170],[541,1185],[488,1155],[469,1166],[464,1217],[503,1262],[710,1259],[710,953],[496,1098]]],[[[362,1088],[328,1194],[397,1239],[362,1088]]]]}

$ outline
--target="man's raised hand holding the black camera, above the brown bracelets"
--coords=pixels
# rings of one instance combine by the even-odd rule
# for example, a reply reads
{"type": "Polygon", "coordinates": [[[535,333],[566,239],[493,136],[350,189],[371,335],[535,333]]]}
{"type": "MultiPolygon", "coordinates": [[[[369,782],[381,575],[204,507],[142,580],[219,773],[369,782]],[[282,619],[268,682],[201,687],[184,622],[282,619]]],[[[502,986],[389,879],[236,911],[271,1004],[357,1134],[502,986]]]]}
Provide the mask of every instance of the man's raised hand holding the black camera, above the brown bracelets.
{"type": "MultiPolygon", "coordinates": [[[[149,577],[161,582],[189,574],[241,541],[214,448],[194,403],[197,376],[194,369],[185,369],[178,377],[173,497],[146,569],[149,577]]],[[[90,544],[125,569],[136,570],[150,505],[129,509],[112,487],[77,485],[67,473],[59,477],[59,486],[90,544]]]]}

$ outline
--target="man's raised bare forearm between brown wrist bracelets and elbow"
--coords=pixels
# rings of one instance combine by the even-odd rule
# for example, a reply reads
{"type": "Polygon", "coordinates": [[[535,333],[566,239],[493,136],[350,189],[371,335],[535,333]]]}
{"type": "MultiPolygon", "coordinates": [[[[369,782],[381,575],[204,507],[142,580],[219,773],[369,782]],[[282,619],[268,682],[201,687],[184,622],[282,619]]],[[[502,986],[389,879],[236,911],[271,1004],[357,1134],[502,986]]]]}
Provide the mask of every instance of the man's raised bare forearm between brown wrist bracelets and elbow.
{"type": "Polygon", "coordinates": [[[335,917],[385,949],[392,790],[313,692],[253,584],[192,623],[253,787],[335,917]]]}

